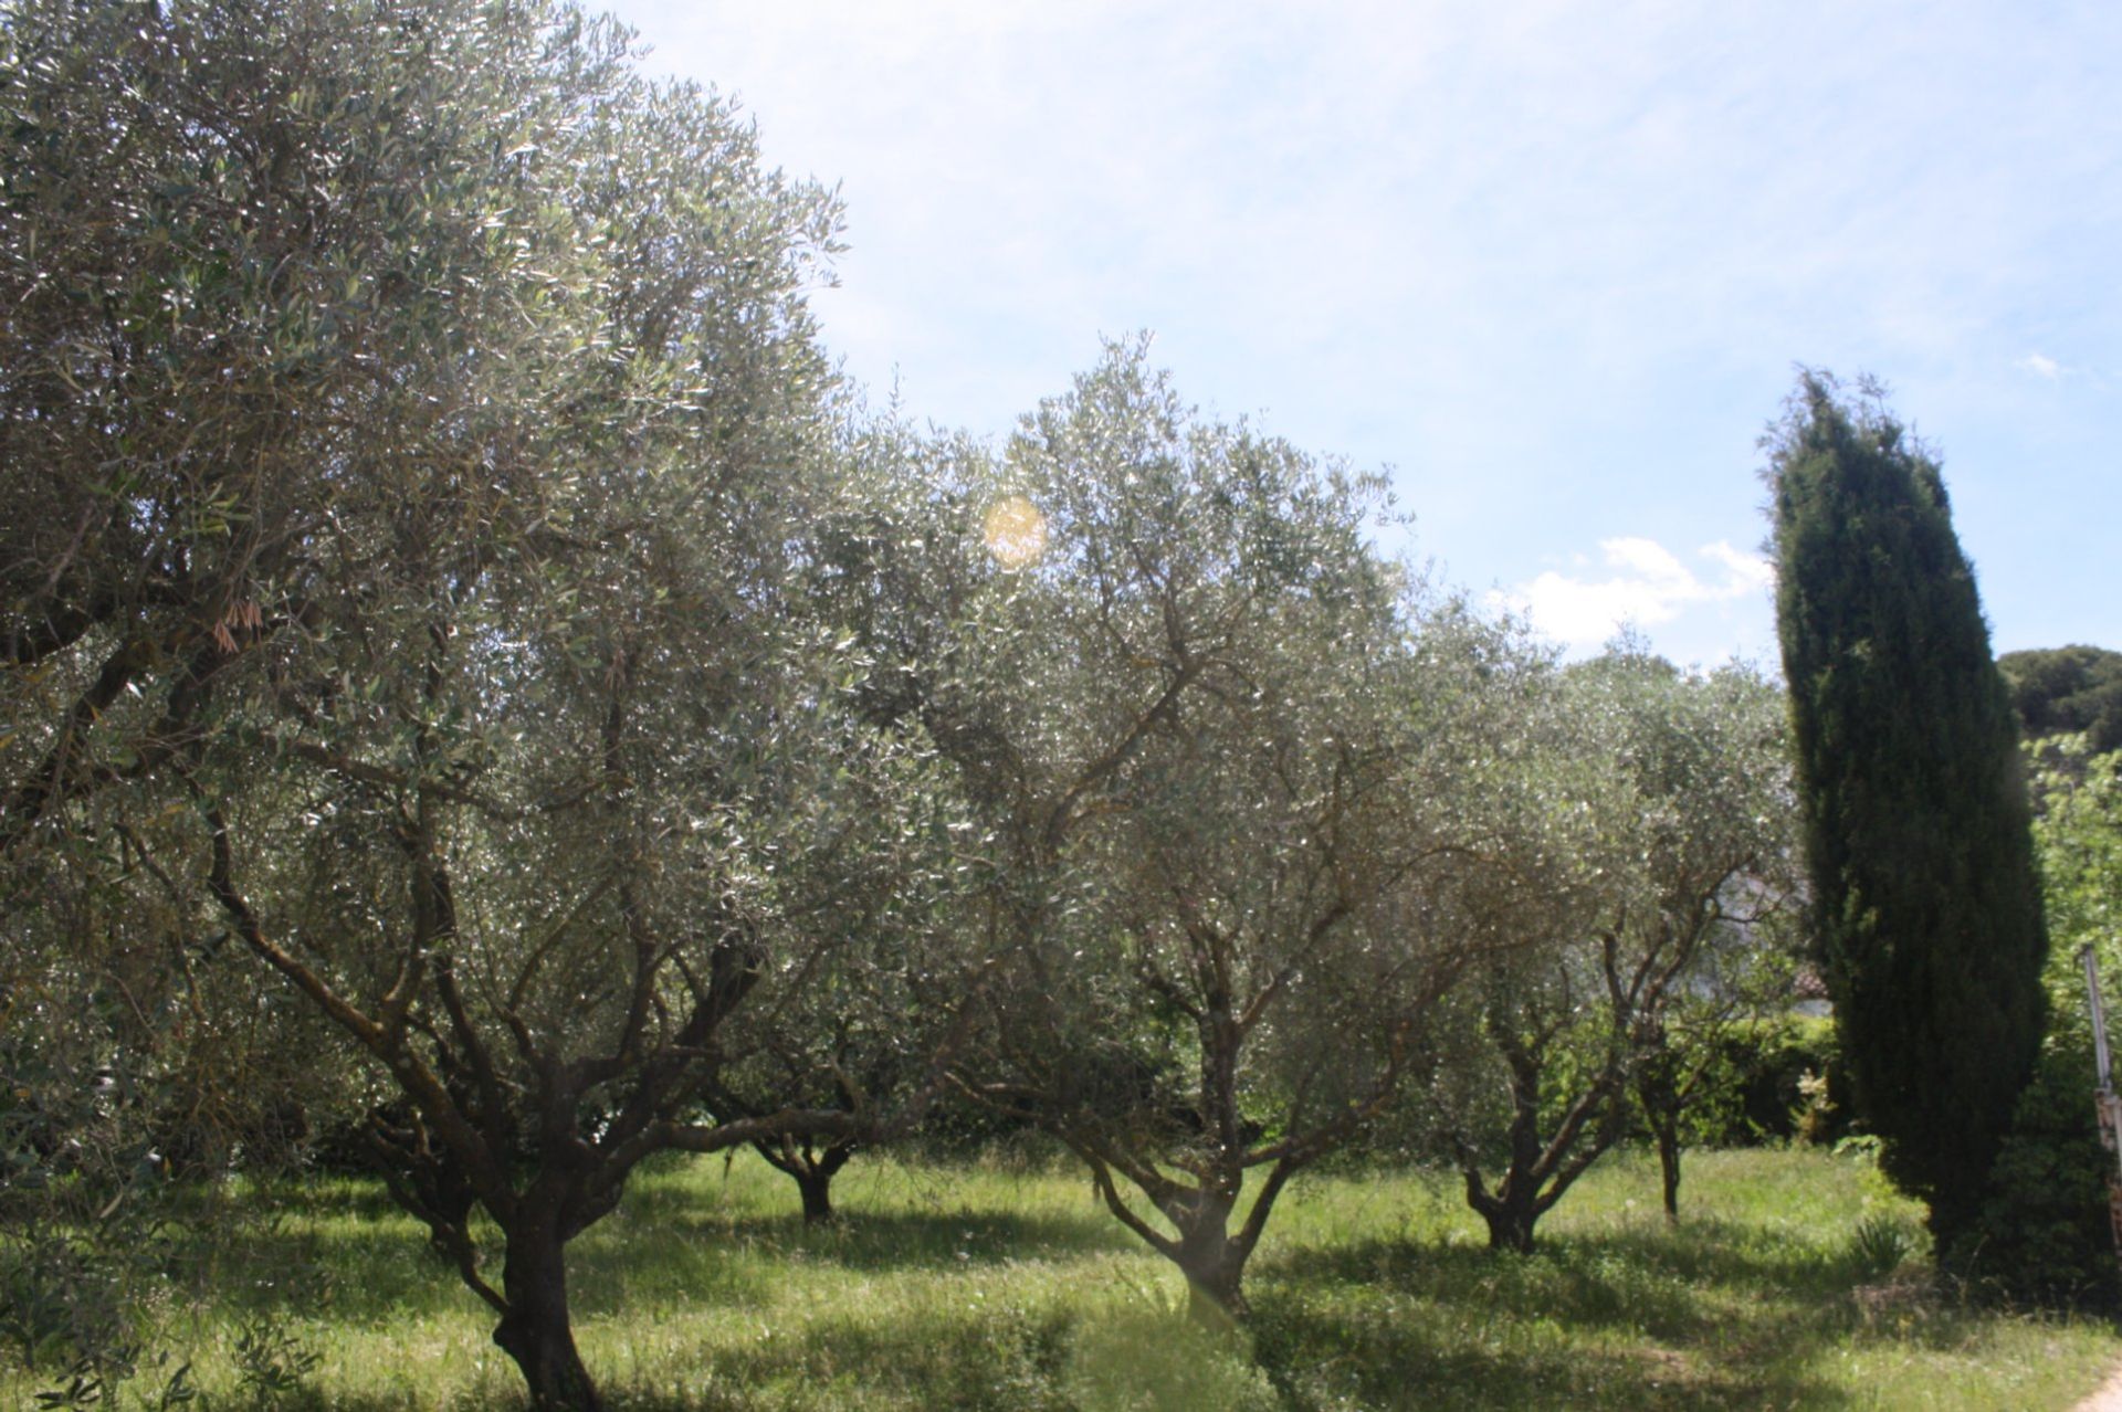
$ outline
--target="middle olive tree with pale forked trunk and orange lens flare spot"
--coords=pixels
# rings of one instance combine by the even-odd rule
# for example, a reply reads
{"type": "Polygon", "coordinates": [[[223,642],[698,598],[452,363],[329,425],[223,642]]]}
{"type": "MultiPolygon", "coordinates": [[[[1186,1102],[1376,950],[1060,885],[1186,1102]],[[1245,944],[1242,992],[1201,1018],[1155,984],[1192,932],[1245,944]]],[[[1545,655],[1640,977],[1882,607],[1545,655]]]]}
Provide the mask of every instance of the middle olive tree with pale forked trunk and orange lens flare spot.
{"type": "Polygon", "coordinates": [[[1477,946],[1462,782],[1509,736],[1513,649],[1367,545],[1375,483],[1197,418],[1142,346],[999,456],[925,454],[925,528],[853,577],[898,664],[874,708],[993,837],[959,1079],[1080,1155],[1201,1312],[1243,1312],[1277,1196],[1390,1100],[1477,946]]]}

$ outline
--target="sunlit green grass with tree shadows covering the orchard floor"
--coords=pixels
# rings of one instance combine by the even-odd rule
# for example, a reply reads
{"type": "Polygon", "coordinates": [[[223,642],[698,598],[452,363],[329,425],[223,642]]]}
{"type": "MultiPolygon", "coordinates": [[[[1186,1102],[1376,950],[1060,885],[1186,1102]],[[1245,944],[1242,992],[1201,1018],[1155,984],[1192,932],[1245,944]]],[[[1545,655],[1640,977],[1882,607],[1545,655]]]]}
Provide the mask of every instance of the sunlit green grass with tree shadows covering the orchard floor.
{"type": "MultiPolygon", "coordinates": [[[[1530,1257],[1490,1255],[1437,1177],[1316,1177],[1275,1213],[1229,1340],[1184,1321],[1178,1276],[1067,1166],[864,1158],[834,1196],[842,1225],[804,1230],[794,1185],[749,1155],[643,1172],[571,1259],[611,1404],[2020,1412],[2069,1408],[2122,1357],[2111,1325],[1931,1293],[1916,1211],[1814,1151],[1693,1155],[1679,1230],[1653,1164],[1608,1162],[1530,1257]]],[[[212,1408],[520,1406],[486,1308],[373,1185],[250,1192],[238,1215],[146,1336],[212,1408]],[[240,1387],[246,1334],[250,1389],[263,1365],[286,1391],[240,1387]]],[[[51,1382],[0,1372],[0,1401],[51,1382]]],[[[136,1378],[123,1406],[157,1387],[136,1378]]]]}

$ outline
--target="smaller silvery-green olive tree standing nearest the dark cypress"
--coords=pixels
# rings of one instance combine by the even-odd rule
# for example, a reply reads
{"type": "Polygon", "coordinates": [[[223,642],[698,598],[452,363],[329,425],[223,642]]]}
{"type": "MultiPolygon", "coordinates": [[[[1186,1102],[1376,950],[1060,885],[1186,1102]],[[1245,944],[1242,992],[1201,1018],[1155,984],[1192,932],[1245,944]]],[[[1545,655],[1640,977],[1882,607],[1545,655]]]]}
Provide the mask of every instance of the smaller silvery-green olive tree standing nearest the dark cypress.
{"type": "Polygon", "coordinates": [[[1532,943],[1468,988],[1500,1083],[1475,1079],[1454,1134],[1490,1245],[1517,1251],[1628,1132],[1632,1098],[1676,1213],[1681,1102],[1795,893],[1774,687],[1738,666],[1687,676],[1625,642],[1553,687],[1532,797],[1566,835],[1543,886],[1509,903],[1532,943]]]}

